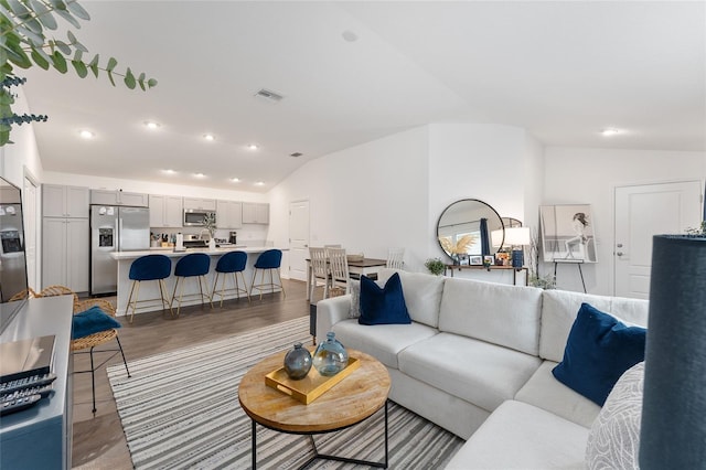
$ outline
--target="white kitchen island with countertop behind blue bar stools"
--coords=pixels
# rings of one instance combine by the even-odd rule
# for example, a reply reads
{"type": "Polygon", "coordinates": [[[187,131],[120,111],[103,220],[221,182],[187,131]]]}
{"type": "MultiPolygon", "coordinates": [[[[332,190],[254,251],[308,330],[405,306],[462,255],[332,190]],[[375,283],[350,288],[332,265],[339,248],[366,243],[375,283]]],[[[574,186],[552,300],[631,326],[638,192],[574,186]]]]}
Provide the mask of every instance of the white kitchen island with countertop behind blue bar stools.
{"type": "MultiPolygon", "coordinates": [[[[137,258],[139,258],[140,256],[145,256],[145,255],[154,255],[154,254],[159,254],[159,255],[164,255],[169,258],[171,258],[172,260],[172,274],[169,278],[164,279],[165,284],[167,284],[167,293],[169,295],[169,299],[171,300],[171,296],[172,292],[174,291],[174,282],[176,281],[176,278],[174,277],[174,267],[176,266],[176,261],[179,261],[179,259],[181,259],[182,257],[184,257],[185,255],[189,255],[191,253],[205,253],[206,255],[208,255],[211,257],[211,268],[208,269],[208,274],[206,275],[206,281],[207,281],[207,286],[208,286],[208,295],[211,295],[211,292],[213,291],[213,282],[215,279],[215,268],[216,268],[216,264],[218,263],[218,258],[228,253],[228,252],[245,252],[247,253],[247,265],[245,266],[245,271],[243,271],[243,276],[245,277],[245,281],[247,284],[247,289],[249,290],[250,288],[250,282],[253,280],[253,271],[254,271],[254,265],[255,261],[257,260],[257,257],[259,256],[260,253],[266,252],[268,249],[281,249],[282,252],[286,252],[288,248],[280,248],[280,247],[275,247],[275,246],[248,246],[248,247],[239,247],[239,246],[233,246],[233,247],[225,247],[225,248],[214,248],[214,249],[210,249],[210,248],[186,248],[183,252],[174,252],[173,248],[152,248],[149,250],[142,250],[142,252],[115,252],[111,253],[110,256],[116,259],[118,261],[118,293],[117,293],[117,314],[118,316],[125,316],[126,314],[126,309],[127,309],[127,305],[128,305],[128,297],[130,295],[130,286],[132,285],[132,281],[129,279],[129,274],[130,274],[130,265],[132,265],[132,261],[137,258]]],[[[239,276],[238,276],[239,277],[239,276]]],[[[221,278],[218,279],[218,288],[221,287],[221,279],[223,279],[223,276],[221,276],[221,278]]],[[[258,280],[259,280],[259,276],[258,276],[258,280]]],[[[226,280],[226,288],[232,288],[233,287],[233,278],[231,277],[231,279],[226,280]]],[[[179,288],[181,290],[181,287],[179,288]]],[[[279,289],[275,289],[276,291],[278,291],[279,289]]],[[[188,295],[193,295],[193,293],[199,293],[199,282],[197,280],[195,280],[195,278],[190,278],[186,279],[186,282],[184,284],[184,297],[186,297],[188,295]]],[[[239,295],[240,297],[245,297],[244,293],[239,295]]],[[[238,296],[236,296],[235,292],[231,291],[231,292],[226,292],[226,297],[225,299],[234,299],[238,296]]],[[[154,310],[162,310],[162,305],[161,301],[159,300],[159,286],[157,284],[157,281],[145,281],[140,284],[140,300],[142,299],[156,299],[153,302],[140,302],[139,305],[139,310],[137,311],[136,314],[142,313],[142,312],[148,312],[148,311],[154,311],[154,310]]],[[[221,298],[218,297],[218,302],[221,301],[221,298]]],[[[189,300],[184,299],[184,302],[182,303],[183,306],[190,306],[190,305],[196,305],[196,303],[201,303],[201,301],[199,299],[195,298],[191,298],[189,300]]],[[[175,308],[175,306],[174,306],[175,308]]]]}

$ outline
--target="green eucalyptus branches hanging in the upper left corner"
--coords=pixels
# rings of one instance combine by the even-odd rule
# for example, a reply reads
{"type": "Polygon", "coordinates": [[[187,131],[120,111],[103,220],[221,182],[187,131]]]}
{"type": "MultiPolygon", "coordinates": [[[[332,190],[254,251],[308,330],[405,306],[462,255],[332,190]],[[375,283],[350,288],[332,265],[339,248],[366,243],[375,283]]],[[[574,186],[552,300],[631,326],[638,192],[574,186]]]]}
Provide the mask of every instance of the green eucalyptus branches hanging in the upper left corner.
{"type": "Polygon", "coordinates": [[[66,31],[65,41],[47,38],[47,30],[58,28],[57,19],[81,29],[81,21],[89,21],[90,15],[76,0],[0,0],[0,146],[10,142],[13,124],[46,120],[46,116],[18,116],[12,111],[15,95],[11,87],[24,83],[18,82],[23,79],[15,76],[14,66],[36,65],[45,71],[52,67],[62,74],[71,66],[81,78],[89,73],[97,78],[104,72],[113,86],[116,76],[122,77],[129,89],[157,86],[154,78],[147,78],[145,73],[136,76],[130,67],[124,73],[116,72],[115,57],[109,57],[105,65],[98,54],[86,61],[84,54],[88,54],[88,49],[71,30],[66,31]]]}

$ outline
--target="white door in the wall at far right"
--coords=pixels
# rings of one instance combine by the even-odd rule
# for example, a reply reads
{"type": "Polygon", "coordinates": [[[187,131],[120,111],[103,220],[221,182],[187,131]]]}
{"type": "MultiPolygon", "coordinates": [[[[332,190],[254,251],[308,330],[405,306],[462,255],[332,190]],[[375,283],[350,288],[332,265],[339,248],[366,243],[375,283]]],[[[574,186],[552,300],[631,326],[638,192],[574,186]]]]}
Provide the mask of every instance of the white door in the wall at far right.
{"type": "Polygon", "coordinates": [[[614,293],[648,299],[652,236],[684,234],[702,220],[702,183],[616,188],[614,293]]]}

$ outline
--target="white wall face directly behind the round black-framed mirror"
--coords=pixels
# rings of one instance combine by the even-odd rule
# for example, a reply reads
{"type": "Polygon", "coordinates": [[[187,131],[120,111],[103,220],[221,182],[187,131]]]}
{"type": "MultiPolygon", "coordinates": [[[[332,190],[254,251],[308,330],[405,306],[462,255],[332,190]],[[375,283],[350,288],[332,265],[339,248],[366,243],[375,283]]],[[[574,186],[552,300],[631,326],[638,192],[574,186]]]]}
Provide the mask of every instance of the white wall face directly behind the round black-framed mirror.
{"type": "MultiPolygon", "coordinates": [[[[448,259],[436,241],[436,226],[446,206],[460,199],[481,200],[502,217],[517,218],[535,229],[544,154],[533,136],[512,126],[435,124],[429,141],[429,257],[448,259]]],[[[498,281],[499,274],[462,271],[456,276],[498,281]]]]}

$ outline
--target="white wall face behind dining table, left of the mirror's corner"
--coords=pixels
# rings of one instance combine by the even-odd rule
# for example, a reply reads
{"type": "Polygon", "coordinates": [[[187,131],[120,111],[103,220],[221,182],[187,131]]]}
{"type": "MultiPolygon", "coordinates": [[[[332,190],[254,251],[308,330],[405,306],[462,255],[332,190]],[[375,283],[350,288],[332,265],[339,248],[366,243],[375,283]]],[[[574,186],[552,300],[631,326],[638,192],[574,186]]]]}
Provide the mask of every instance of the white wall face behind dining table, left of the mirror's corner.
{"type": "MultiPolygon", "coordinates": [[[[427,257],[428,130],[419,127],[310,161],[270,191],[270,238],[289,243],[289,204],[308,200],[310,245],[386,258],[406,248],[418,269],[427,257]]],[[[282,259],[287,275],[289,260],[282,259]]]]}

